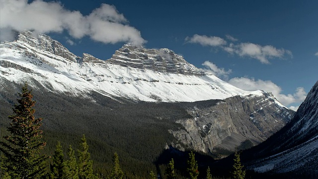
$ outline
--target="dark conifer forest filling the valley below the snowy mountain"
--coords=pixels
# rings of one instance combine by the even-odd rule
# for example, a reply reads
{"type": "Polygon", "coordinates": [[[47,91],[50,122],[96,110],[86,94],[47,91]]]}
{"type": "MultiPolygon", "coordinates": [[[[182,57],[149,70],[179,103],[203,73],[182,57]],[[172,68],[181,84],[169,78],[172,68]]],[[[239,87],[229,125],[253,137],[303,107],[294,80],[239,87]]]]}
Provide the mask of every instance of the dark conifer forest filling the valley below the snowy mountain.
{"type": "MultiPolygon", "coordinates": [[[[38,97],[44,97],[38,91],[35,93],[39,94],[38,97]]],[[[58,104],[54,100],[60,99],[51,93],[49,98],[52,106],[45,106],[35,102],[36,95],[33,97],[33,91],[25,84],[16,96],[17,101],[7,100],[10,104],[14,104],[13,111],[7,110],[10,112],[9,115],[1,113],[1,118],[6,118],[3,121],[7,121],[6,124],[1,124],[0,175],[3,179],[282,177],[282,175],[257,174],[244,169],[240,163],[239,152],[223,160],[225,162],[218,163],[213,159],[215,157],[213,154],[183,152],[167,146],[167,141],[176,142],[169,133],[165,132],[167,126],[180,128],[181,126],[174,120],[188,117],[178,105],[166,103],[159,106],[156,103],[143,105],[127,102],[125,105],[127,113],[116,114],[116,108],[123,106],[115,100],[96,97],[95,99],[99,101],[96,101],[96,106],[91,107],[89,105],[92,103],[80,103],[70,97],[64,100],[65,104],[58,104]],[[143,105],[143,107],[138,111],[135,110],[137,108],[134,105],[143,105]],[[70,106],[68,111],[63,111],[66,110],[65,106],[70,106]],[[78,113],[72,110],[78,107],[86,110],[78,113]],[[102,110],[96,110],[94,107],[113,112],[96,114],[94,110],[102,110]],[[151,112],[145,113],[145,111],[151,112]],[[55,124],[58,120],[52,118],[56,117],[63,118],[64,120],[59,121],[65,123],[55,124]],[[92,125],[94,121],[101,122],[96,120],[96,117],[112,120],[104,121],[107,124],[100,126],[107,128],[99,129],[99,125],[92,125]],[[133,120],[138,117],[140,120],[133,120]],[[91,122],[84,122],[83,118],[91,122]],[[132,120],[124,120],[127,118],[132,120]],[[52,129],[50,125],[59,128],[52,129]],[[115,128],[116,125],[122,128],[115,128]],[[131,135],[132,133],[134,135],[131,135]]],[[[2,101],[1,106],[3,104],[6,103],[2,101]]],[[[291,174],[285,174],[284,177],[288,175],[291,174]]]]}

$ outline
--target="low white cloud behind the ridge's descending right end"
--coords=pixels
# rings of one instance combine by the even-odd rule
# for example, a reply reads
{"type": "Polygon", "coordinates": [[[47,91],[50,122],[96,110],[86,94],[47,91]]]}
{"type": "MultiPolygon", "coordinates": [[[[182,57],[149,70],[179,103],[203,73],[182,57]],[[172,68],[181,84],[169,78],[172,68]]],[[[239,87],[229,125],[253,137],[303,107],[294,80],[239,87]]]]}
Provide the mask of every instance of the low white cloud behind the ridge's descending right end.
{"type": "MultiPolygon", "coordinates": [[[[271,81],[255,80],[253,78],[233,78],[229,83],[244,90],[262,89],[267,92],[272,92],[274,96],[285,106],[292,103],[303,102],[306,98],[307,92],[303,87],[295,89],[293,94],[282,94],[282,89],[271,81]]],[[[296,109],[292,106],[293,110],[296,109]]]]}

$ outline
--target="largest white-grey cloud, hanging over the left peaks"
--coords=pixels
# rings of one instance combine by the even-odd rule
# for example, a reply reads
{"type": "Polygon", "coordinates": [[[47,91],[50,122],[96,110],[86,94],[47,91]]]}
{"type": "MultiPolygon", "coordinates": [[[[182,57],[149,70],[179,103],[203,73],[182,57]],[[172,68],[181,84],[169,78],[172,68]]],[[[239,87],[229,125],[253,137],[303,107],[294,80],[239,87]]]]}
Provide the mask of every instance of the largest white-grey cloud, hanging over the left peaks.
{"type": "Polygon", "coordinates": [[[140,31],[130,26],[115,6],[105,3],[90,14],[83,15],[79,11],[66,9],[56,1],[34,0],[28,3],[28,0],[1,0],[0,30],[1,40],[12,39],[12,30],[36,33],[66,30],[74,38],[89,36],[103,43],[146,42],[140,31]]]}

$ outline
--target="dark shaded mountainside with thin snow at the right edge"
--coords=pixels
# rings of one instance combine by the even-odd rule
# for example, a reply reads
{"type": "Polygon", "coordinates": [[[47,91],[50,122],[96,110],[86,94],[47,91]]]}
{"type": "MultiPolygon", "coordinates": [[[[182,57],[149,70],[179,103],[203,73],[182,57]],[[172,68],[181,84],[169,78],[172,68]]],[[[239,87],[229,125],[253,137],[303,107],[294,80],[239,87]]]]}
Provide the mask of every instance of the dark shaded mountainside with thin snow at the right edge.
{"type": "MultiPolygon", "coordinates": [[[[318,177],[318,81],[282,130],[259,146],[259,154],[271,154],[250,165],[258,172],[297,172],[318,177]]],[[[259,155],[258,154],[258,155],[259,155]]]]}

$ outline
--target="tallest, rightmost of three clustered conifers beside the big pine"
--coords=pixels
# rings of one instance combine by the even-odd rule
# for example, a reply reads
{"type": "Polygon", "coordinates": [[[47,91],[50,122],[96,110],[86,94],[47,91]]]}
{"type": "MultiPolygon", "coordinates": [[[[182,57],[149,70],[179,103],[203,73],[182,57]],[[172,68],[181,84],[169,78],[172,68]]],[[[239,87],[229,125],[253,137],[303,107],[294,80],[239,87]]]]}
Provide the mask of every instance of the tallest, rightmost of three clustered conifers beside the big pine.
{"type": "Polygon", "coordinates": [[[88,152],[88,145],[86,142],[85,135],[81,138],[80,150],[78,150],[79,158],[79,179],[95,179],[93,175],[93,161],[90,159],[88,152]]]}

